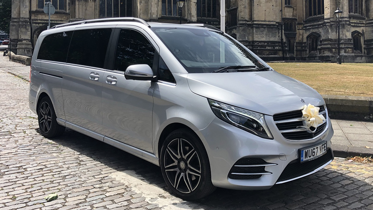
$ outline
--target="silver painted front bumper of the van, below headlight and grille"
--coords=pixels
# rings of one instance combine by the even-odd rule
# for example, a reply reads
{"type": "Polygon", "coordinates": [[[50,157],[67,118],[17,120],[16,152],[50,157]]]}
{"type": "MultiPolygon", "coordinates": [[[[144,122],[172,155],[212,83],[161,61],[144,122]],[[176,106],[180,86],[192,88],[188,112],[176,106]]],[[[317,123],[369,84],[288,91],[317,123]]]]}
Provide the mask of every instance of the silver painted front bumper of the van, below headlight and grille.
{"type": "MultiPolygon", "coordinates": [[[[273,122],[271,116],[266,122],[273,122]]],[[[315,140],[288,141],[282,137],[274,123],[267,123],[273,140],[260,138],[215,118],[207,128],[200,130],[211,166],[211,179],[216,187],[229,189],[269,189],[275,184],[292,181],[325,167],[334,159],[330,148],[333,129],[329,128],[315,140]],[[277,132],[276,132],[277,131],[277,132]],[[314,160],[300,163],[299,149],[327,142],[327,152],[314,160]],[[245,161],[258,161],[255,173],[260,176],[233,175],[235,165],[245,161]],[[246,179],[246,178],[250,179],[246,179]]],[[[251,165],[251,164],[249,164],[251,165]]],[[[251,167],[254,168],[254,167],[251,167]]],[[[246,169],[246,168],[244,168],[246,169]]],[[[253,169],[254,170],[254,169],[253,169]]],[[[237,171],[236,171],[237,172],[237,171]]],[[[240,173],[238,173],[240,174],[240,173]]]]}

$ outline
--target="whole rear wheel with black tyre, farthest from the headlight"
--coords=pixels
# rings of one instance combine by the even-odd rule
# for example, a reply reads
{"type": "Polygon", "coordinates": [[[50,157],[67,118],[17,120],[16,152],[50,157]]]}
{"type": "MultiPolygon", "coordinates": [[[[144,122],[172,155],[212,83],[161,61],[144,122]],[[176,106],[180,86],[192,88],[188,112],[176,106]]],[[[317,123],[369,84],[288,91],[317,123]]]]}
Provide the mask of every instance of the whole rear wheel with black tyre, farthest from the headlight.
{"type": "Polygon", "coordinates": [[[65,127],[57,123],[56,113],[49,97],[46,96],[41,99],[37,113],[39,128],[43,137],[53,138],[63,134],[65,127]]]}

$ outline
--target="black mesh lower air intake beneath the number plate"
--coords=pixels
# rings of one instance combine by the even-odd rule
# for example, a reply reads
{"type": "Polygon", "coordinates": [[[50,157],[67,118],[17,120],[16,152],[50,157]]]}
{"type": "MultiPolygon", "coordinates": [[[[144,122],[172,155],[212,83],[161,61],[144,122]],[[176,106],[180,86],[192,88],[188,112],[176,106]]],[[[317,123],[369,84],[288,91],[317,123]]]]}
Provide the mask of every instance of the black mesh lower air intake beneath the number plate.
{"type": "Polygon", "coordinates": [[[294,179],[299,176],[310,173],[313,170],[317,169],[318,167],[321,167],[323,164],[333,159],[333,152],[331,149],[328,149],[323,156],[320,156],[314,160],[310,160],[304,163],[300,163],[299,160],[297,160],[297,162],[295,163],[289,163],[281,173],[277,182],[294,179]]]}

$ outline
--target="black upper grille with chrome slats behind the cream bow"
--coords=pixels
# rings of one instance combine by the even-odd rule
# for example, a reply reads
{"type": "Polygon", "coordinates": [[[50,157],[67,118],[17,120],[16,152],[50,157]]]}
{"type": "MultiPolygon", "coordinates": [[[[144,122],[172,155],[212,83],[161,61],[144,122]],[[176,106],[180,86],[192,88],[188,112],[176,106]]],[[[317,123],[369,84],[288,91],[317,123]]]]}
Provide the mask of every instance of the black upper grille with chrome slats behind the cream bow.
{"type": "MultiPolygon", "coordinates": [[[[325,110],[325,106],[319,106],[320,110],[319,113],[324,112],[322,115],[327,119],[327,114],[325,110]]],[[[302,110],[296,110],[291,112],[279,113],[273,115],[273,120],[276,122],[276,126],[279,131],[291,130],[301,128],[303,126],[303,120],[297,121],[297,119],[302,118],[302,110]],[[289,122],[282,122],[282,120],[289,120],[289,122]]],[[[307,140],[320,135],[326,129],[326,122],[319,127],[316,128],[314,133],[309,133],[307,131],[294,131],[294,132],[287,132],[282,133],[282,136],[287,140],[307,140]]]]}

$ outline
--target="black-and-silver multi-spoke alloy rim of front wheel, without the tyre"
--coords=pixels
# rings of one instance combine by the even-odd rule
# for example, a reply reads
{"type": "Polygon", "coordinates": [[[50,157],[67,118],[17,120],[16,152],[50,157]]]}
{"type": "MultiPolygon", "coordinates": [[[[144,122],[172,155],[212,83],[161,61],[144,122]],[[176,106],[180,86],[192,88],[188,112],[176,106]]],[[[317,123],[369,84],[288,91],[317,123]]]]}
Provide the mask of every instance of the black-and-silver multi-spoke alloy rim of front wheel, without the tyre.
{"type": "Polygon", "coordinates": [[[182,193],[193,192],[201,181],[200,157],[183,138],[176,138],[167,145],[164,170],[172,186],[182,193]]]}

